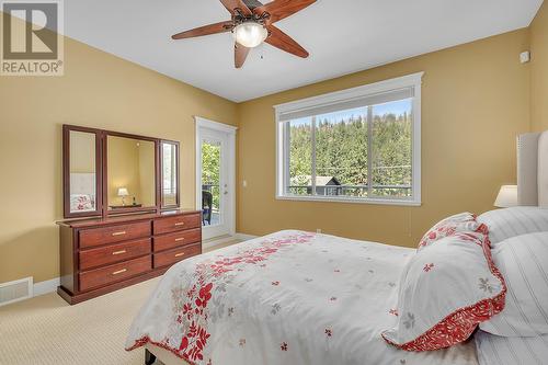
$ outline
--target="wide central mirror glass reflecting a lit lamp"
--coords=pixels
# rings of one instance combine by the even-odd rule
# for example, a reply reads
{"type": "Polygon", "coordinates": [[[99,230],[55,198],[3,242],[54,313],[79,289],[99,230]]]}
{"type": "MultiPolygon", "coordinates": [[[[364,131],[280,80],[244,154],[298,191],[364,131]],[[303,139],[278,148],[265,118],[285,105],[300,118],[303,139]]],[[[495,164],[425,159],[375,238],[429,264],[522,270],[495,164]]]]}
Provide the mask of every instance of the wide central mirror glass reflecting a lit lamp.
{"type": "Polygon", "coordinates": [[[109,210],[156,206],[155,142],[106,137],[109,210]]]}

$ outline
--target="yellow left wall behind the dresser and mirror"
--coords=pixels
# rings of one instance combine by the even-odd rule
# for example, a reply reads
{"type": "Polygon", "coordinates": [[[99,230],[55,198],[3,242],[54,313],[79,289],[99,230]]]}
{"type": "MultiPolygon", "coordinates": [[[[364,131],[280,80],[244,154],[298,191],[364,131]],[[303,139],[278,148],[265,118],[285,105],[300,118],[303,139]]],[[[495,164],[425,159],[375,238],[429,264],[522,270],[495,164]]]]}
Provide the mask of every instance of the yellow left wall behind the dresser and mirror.
{"type": "Polygon", "coordinates": [[[195,204],[193,115],[237,124],[232,102],[72,39],[65,55],[64,77],[0,77],[0,283],[59,276],[64,123],[181,141],[183,207],[195,204]]]}

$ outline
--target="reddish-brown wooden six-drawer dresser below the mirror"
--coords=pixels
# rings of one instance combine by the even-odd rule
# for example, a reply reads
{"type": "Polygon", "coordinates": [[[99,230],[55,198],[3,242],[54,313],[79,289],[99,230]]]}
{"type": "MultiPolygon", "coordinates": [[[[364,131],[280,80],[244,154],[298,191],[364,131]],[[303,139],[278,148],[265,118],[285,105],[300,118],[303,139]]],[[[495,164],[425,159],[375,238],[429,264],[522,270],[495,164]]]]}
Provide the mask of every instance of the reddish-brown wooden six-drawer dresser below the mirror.
{"type": "Polygon", "coordinates": [[[202,253],[196,210],[70,220],[60,227],[60,286],[73,305],[163,274],[202,253]]]}

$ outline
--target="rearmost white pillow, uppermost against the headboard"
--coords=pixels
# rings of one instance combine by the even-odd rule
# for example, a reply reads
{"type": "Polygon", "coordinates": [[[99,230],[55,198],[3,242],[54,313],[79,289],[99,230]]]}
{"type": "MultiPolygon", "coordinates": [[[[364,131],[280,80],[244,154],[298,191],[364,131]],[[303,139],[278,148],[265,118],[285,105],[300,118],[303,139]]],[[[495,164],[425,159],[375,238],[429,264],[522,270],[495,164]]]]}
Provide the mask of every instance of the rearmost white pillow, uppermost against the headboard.
{"type": "Polygon", "coordinates": [[[483,213],[480,224],[489,228],[489,240],[495,247],[507,238],[548,231],[548,209],[536,206],[518,206],[483,213]]]}

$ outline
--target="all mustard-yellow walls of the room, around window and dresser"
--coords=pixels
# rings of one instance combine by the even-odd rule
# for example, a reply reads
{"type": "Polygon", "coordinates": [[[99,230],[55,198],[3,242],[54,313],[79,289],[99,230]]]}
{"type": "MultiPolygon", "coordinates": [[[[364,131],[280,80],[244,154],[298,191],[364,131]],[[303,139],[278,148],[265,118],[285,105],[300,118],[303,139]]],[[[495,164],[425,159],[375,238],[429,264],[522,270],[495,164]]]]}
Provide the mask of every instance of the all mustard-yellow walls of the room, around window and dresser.
{"type": "Polygon", "coordinates": [[[448,214],[490,209],[499,186],[515,182],[514,137],[530,129],[532,110],[544,115],[537,128],[548,128],[543,9],[532,65],[517,61],[529,46],[529,30],[521,30],[239,105],[67,38],[64,77],[0,77],[0,283],[58,276],[64,123],[181,141],[183,207],[195,204],[192,116],[239,125],[240,232],[321,228],[415,246],[448,214]],[[532,85],[530,68],[545,81],[532,85]],[[273,105],[418,71],[425,71],[421,207],[275,201],[273,105]]]}

